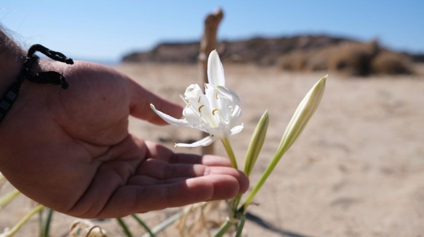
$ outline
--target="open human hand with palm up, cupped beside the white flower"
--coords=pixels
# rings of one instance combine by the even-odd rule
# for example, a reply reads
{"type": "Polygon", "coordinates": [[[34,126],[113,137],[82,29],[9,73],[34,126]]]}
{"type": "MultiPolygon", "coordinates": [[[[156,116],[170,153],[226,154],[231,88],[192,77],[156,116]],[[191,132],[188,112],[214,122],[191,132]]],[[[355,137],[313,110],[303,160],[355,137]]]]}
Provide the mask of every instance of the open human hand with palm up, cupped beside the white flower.
{"type": "Polygon", "coordinates": [[[96,64],[41,61],[36,70],[63,73],[70,87],[25,81],[0,124],[0,169],[31,199],[65,214],[105,218],[247,190],[247,177],[226,158],[175,154],[129,134],[130,114],[162,125],[149,104],[177,117],[179,105],[96,64]]]}

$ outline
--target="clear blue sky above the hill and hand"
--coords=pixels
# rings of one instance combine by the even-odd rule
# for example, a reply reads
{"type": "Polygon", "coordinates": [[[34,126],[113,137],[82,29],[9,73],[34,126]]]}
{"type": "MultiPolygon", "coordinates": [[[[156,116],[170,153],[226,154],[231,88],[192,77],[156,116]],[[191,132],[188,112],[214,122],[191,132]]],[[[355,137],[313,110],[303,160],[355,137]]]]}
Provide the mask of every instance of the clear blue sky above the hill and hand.
{"type": "Polygon", "coordinates": [[[0,23],[24,47],[108,61],[164,40],[199,39],[205,15],[218,7],[220,39],[328,33],[424,53],[424,1],[2,0],[0,23]]]}

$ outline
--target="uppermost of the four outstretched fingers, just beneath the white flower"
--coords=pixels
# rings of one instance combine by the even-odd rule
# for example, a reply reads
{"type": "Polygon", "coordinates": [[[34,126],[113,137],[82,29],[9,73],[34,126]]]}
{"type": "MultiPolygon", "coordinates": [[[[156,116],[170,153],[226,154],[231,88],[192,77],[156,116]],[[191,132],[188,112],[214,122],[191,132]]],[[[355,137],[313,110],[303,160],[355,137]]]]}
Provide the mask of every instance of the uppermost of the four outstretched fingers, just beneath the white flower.
{"type": "Polygon", "coordinates": [[[208,166],[228,166],[231,162],[228,158],[216,155],[195,155],[185,153],[174,153],[170,149],[154,143],[145,141],[147,147],[146,156],[149,158],[161,159],[170,163],[204,164],[208,166]]]}

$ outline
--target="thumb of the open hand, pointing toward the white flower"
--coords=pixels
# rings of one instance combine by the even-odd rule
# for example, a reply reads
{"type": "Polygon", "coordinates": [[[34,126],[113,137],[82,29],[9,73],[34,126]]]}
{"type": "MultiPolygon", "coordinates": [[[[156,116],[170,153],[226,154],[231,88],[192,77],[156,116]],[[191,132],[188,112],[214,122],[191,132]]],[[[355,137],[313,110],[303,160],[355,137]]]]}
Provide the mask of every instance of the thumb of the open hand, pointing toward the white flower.
{"type": "Polygon", "coordinates": [[[166,114],[181,117],[183,108],[180,105],[153,94],[130,79],[128,83],[131,93],[131,115],[153,124],[166,125],[167,123],[150,108],[150,104],[154,104],[158,110],[166,114]]]}

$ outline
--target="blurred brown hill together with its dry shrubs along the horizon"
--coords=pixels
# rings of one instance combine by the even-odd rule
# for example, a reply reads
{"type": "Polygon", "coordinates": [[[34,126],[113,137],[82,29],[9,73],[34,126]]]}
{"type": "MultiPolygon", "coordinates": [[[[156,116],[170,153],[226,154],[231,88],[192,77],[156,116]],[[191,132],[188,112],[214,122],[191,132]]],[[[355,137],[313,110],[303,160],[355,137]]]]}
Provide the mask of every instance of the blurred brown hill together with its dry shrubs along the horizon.
{"type": "MultiPolygon", "coordinates": [[[[133,52],[123,62],[197,63],[199,42],[165,42],[146,52],[133,52]]],[[[377,41],[357,40],[327,35],[292,37],[254,37],[221,41],[217,47],[224,62],[277,65],[284,70],[330,70],[350,75],[413,73],[411,62],[424,62],[424,54],[395,52],[377,41]]]]}

